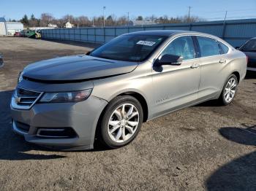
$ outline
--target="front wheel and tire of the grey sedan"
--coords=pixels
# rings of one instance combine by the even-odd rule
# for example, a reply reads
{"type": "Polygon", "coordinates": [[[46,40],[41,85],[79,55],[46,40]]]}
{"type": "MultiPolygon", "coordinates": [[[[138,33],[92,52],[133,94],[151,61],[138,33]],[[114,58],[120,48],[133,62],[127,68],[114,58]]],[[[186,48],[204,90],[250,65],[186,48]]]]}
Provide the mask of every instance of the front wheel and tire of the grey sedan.
{"type": "Polygon", "coordinates": [[[99,138],[110,149],[123,147],[135,139],[142,122],[143,109],[140,102],[129,95],[118,96],[105,109],[99,138]]]}

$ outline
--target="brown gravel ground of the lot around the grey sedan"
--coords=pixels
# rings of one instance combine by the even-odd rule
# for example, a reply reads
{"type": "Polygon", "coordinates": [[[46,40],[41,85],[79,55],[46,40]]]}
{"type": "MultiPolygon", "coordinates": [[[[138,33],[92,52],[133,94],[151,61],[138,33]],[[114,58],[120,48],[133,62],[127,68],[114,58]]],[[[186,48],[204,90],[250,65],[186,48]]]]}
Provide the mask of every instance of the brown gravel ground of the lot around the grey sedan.
{"type": "Polygon", "coordinates": [[[256,190],[256,73],[230,106],[210,101],[151,120],[121,149],[58,152],[12,133],[18,72],[93,47],[75,44],[0,38],[0,190],[256,190]]]}

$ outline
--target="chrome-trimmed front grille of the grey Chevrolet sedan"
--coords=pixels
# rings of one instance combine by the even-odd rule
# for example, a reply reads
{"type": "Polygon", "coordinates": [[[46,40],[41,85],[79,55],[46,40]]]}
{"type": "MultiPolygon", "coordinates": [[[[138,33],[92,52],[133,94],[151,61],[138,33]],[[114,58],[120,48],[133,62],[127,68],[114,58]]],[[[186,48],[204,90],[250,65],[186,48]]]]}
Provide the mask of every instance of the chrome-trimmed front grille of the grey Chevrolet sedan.
{"type": "Polygon", "coordinates": [[[12,107],[16,109],[30,109],[41,95],[41,92],[17,87],[12,97],[12,107]]]}

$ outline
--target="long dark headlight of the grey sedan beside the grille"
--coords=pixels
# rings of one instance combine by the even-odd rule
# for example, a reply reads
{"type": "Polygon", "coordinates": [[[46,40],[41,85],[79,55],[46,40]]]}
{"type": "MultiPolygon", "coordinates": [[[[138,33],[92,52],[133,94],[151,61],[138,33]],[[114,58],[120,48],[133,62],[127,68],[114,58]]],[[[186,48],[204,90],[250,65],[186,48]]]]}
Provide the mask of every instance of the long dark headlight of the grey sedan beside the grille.
{"type": "Polygon", "coordinates": [[[84,101],[91,95],[91,90],[61,92],[61,93],[44,93],[39,103],[67,103],[84,101]]]}

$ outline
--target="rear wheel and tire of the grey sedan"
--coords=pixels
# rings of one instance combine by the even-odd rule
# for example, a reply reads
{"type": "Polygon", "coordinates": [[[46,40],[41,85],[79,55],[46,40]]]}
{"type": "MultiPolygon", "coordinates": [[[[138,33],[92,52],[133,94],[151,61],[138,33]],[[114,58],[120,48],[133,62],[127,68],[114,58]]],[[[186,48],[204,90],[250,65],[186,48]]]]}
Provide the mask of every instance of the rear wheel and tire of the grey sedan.
{"type": "Polygon", "coordinates": [[[238,79],[235,74],[231,74],[230,77],[228,77],[227,81],[225,82],[225,85],[222,89],[222,93],[219,96],[220,104],[224,106],[230,104],[236,96],[237,87],[238,79]]]}

